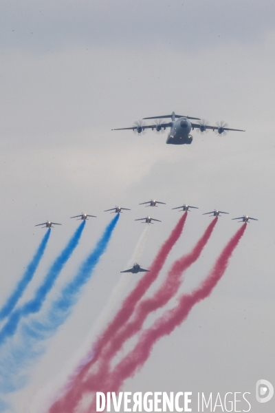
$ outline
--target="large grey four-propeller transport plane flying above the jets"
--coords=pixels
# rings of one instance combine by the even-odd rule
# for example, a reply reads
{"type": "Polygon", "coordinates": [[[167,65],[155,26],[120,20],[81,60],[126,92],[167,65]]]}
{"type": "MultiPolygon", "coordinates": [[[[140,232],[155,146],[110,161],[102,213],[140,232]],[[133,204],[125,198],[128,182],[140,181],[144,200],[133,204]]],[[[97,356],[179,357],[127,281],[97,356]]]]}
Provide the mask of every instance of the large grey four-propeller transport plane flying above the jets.
{"type": "Polygon", "coordinates": [[[176,115],[175,112],[172,112],[171,115],[163,115],[163,116],[151,116],[149,118],[143,118],[142,120],[138,121],[132,127],[122,127],[119,129],[112,129],[112,131],[121,131],[125,129],[131,129],[138,134],[144,133],[145,129],[152,129],[160,132],[165,130],[166,127],[170,127],[170,132],[168,133],[168,137],[166,139],[166,143],[172,145],[184,145],[192,142],[192,135],[190,135],[190,131],[197,129],[201,133],[208,131],[211,129],[212,131],[217,131],[218,134],[226,134],[227,131],[240,131],[244,132],[243,129],[230,129],[226,123],[219,123],[216,126],[210,126],[206,121],[201,120],[200,118],[192,118],[191,116],[182,116],[176,115]],[[162,122],[162,118],[171,118],[170,122],[162,122]],[[145,119],[157,119],[157,122],[154,125],[145,125],[145,119]],[[194,123],[191,120],[200,120],[199,123],[194,123]]]}

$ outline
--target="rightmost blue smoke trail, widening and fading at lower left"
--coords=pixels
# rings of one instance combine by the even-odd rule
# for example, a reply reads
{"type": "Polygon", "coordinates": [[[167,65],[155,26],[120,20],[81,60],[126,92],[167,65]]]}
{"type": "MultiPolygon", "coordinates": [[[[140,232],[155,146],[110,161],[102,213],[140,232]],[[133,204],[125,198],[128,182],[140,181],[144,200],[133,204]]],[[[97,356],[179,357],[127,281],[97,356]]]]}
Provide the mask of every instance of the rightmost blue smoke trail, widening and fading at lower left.
{"type": "Polygon", "coordinates": [[[27,367],[30,366],[30,360],[43,354],[45,351],[43,341],[51,337],[71,313],[81,287],[90,279],[96,264],[106,251],[119,216],[118,214],[111,220],[94,250],[80,265],[76,276],[61,290],[58,299],[50,304],[50,310],[45,315],[39,314],[21,323],[17,340],[5,343],[6,346],[1,349],[0,357],[1,392],[18,390],[27,383],[27,367]]]}

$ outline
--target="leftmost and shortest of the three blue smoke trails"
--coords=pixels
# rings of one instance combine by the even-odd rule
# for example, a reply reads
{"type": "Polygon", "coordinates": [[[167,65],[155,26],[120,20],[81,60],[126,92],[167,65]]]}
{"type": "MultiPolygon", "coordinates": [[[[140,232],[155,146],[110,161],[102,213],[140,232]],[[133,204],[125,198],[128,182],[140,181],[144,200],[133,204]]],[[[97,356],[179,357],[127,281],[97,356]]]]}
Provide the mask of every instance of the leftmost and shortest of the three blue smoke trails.
{"type": "Polygon", "coordinates": [[[28,264],[28,267],[23,273],[23,277],[21,280],[18,282],[16,288],[14,289],[13,293],[10,295],[10,297],[7,299],[5,304],[0,310],[0,320],[4,319],[5,317],[8,317],[8,315],[12,312],[14,307],[17,305],[17,302],[19,299],[22,297],[25,289],[27,288],[28,284],[32,281],[32,277],[34,276],[34,273],[39,266],[39,263],[41,261],[41,258],[43,257],[43,254],[45,252],[45,248],[47,246],[47,242],[49,240],[51,233],[51,229],[49,228],[47,232],[45,233],[43,240],[41,241],[41,244],[39,245],[39,248],[37,249],[36,253],[34,254],[34,257],[32,258],[32,261],[30,264],[28,264]]]}

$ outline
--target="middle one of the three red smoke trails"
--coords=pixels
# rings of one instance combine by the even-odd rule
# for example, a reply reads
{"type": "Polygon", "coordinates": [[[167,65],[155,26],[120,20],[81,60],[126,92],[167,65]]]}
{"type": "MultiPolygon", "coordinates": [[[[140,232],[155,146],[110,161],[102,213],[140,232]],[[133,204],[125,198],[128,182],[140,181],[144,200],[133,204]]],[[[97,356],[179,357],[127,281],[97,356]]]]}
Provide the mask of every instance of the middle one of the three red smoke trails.
{"type": "Polygon", "coordinates": [[[92,390],[102,388],[102,385],[104,385],[104,381],[109,374],[111,360],[123,346],[124,342],[138,332],[140,328],[142,328],[144,320],[151,312],[157,310],[157,308],[163,307],[167,304],[169,299],[177,293],[177,290],[181,285],[182,273],[199,258],[201,251],[204,246],[206,246],[206,243],[212,234],[214,226],[217,224],[217,220],[217,217],[212,220],[206,231],[204,231],[202,237],[189,254],[184,255],[179,258],[179,260],[175,261],[173,266],[171,266],[162,286],[156,291],[153,297],[144,299],[137,304],[133,321],[129,321],[122,328],[120,328],[118,333],[109,342],[109,345],[102,350],[100,363],[97,369],[98,372],[87,377],[87,381],[83,383],[83,390],[85,389],[85,391],[91,392],[92,390]]]}

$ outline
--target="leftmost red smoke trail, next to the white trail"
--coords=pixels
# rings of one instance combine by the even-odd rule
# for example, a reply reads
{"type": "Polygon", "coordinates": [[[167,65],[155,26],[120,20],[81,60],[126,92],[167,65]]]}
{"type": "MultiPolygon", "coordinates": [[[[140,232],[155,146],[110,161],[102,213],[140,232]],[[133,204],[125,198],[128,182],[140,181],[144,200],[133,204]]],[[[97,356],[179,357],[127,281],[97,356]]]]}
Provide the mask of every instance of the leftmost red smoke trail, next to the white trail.
{"type": "Polygon", "coordinates": [[[119,328],[121,328],[126,323],[126,321],[129,320],[129,318],[133,314],[135,305],[146,293],[146,290],[148,290],[151,284],[153,284],[153,282],[157,278],[157,275],[159,275],[159,271],[161,271],[162,266],[164,265],[166,258],[168,257],[168,254],[179,239],[181,232],[184,229],[186,218],[187,212],[185,212],[184,215],[181,216],[179,222],[177,222],[177,225],[170,233],[168,239],[159,249],[155,260],[151,265],[150,272],[146,273],[140,279],[140,281],[137,283],[137,286],[135,286],[129,296],[124,299],[124,302],[122,303],[122,306],[117,315],[115,315],[113,321],[111,321],[109,326],[107,326],[106,330],[102,333],[101,337],[96,342],[96,349],[94,348],[94,346],[91,349],[91,354],[89,354],[87,357],[89,361],[85,363],[85,365],[82,366],[77,372],[76,376],[72,378],[71,383],[69,383],[69,388],[71,388],[72,386],[73,388],[71,388],[67,392],[67,394],[65,394],[65,396],[63,396],[52,405],[49,413],[69,413],[74,411],[76,403],[78,403],[79,398],[82,396],[83,378],[85,377],[91,366],[93,366],[94,363],[98,360],[98,357],[100,356],[103,348],[107,346],[115,333],[118,332],[119,328]],[[96,350],[95,353],[94,350],[96,350]]]}

